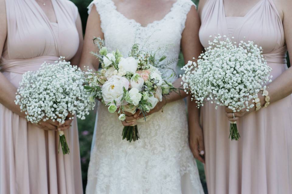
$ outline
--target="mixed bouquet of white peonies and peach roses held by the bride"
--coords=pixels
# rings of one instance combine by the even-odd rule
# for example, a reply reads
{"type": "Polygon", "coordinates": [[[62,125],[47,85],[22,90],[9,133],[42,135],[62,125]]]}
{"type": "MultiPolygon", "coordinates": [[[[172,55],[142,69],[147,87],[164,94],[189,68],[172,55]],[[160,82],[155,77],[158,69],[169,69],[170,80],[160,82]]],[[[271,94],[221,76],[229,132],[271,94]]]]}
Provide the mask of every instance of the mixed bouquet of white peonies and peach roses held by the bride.
{"type": "MultiPolygon", "coordinates": [[[[165,56],[155,59],[155,52],[139,50],[134,44],[129,57],[124,58],[119,50],[108,52],[104,42],[95,38],[99,52],[93,53],[101,63],[101,70],[88,72],[85,89],[91,93],[90,100],[95,98],[108,106],[110,113],[117,112],[121,121],[126,112],[134,114],[137,110],[144,115],[153,109],[164,95],[176,90],[167,82],[158,67],[167,67],[172,61],[165,56]]],[[[139,139],[137,125],[123,128],[123,139],[136,141],[139,139]]]]}

